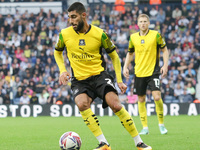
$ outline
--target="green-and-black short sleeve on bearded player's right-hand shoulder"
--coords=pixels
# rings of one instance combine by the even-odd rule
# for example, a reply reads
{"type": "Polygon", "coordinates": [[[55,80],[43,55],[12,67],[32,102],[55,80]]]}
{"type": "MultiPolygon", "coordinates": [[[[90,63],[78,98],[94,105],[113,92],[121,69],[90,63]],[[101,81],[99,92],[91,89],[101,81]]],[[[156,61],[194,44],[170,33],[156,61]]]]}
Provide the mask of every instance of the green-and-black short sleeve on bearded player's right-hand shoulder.
{"type": "Polygon", "coordinates": [[[101,43],[102,43],[102,47],[106,50],[108,54],[112,53],[116,48],[115,44],[111,41],[108,34],[104,31],[102,33],[101,43]]]}

